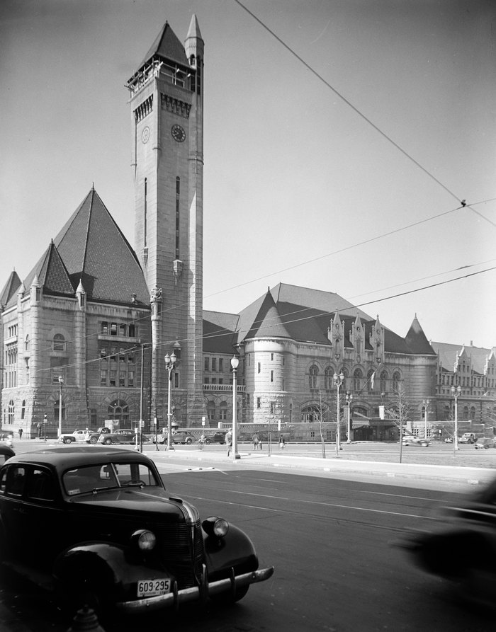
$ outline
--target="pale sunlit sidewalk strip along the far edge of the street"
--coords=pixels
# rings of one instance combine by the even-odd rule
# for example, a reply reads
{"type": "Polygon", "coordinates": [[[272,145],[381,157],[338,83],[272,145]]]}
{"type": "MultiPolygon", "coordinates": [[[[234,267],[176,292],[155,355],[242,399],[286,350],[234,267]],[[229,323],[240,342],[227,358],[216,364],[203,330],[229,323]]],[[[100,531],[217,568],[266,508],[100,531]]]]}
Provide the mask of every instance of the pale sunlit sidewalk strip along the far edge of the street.
{"type": "MultiPolygon", "coordinates": [[[[157,465],[187,464],[187,469],[271,469],[289,470],[310,476],[329,475],[349,480],[382,482],[403,486],[427,486],[448,488],[457,486],[456,491],[485,485],[496,477],[496,470],[479,467],[425,465],[408,463],[385,463],[381,461],[354,461],[332,456],[327,459],[290,454],[258,454],[239,452],[240,458],[233,460],[225,452],[207,450],[175,450],[174,452],[147,452],[157,465]],[[424,483],[424,484],[423,484],[424,483]]],[[[453,489],[454,490],[454,489],[453,489]]]]}

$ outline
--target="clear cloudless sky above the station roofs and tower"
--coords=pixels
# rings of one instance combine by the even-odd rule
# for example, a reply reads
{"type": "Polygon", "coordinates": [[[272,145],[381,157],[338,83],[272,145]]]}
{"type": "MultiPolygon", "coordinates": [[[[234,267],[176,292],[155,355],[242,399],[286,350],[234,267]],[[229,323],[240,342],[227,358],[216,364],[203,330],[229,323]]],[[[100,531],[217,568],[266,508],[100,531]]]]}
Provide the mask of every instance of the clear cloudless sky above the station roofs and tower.
{"type": "Polygon", "coordinates": [[[473,275],[496,266],[496,3],[242,2],[310,69],[235,0],[1,0],[0,287],[92,183],[133,243],[125,81],[196,13],[204,308],[283,282],[403,336],[417,314],[431,340],[496,345],[496,272],[473,275]]]}

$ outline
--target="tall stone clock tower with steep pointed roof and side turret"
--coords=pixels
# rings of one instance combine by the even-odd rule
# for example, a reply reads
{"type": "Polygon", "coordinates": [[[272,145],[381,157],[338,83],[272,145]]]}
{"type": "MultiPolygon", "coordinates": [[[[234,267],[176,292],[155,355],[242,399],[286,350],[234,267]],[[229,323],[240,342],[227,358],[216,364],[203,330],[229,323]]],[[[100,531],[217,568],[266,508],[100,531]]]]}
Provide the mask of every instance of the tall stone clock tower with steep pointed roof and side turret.
{"type": "MultiPolygon", "coordinates": [[[[128,81],[135,251],[152,308],[152,417],[196,425],[203,403],[203,39],[193,15],[184,45],[165,23],[128,81]]],[[[160,422],[159,422],[160,423],[160,422]]]]}

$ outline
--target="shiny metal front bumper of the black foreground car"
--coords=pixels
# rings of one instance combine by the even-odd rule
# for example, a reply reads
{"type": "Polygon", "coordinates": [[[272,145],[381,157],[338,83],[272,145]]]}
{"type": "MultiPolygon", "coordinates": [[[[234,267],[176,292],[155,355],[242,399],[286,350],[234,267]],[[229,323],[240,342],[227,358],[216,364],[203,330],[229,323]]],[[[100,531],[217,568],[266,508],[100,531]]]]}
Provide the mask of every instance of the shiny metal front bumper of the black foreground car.
{"type": "Polygon", "coordinates": [[[178,590],[176,582],[173,589],[167,594],[161,594],[158,597],[147,597],[145,599],[134,599],[130,602],[119,602],[116,609],[120,612],[128,614],[139,614],[142,612],[152,612],[164,608],[179,608],[181,604],[186,602],[206,602],[208,597],[216,594],[232,594],[233,600],[237,589],[257,582],[264,582],[271,578],[274,573],[274,566],[253,570],[250,573],[235,575],[232,570],[231,576],[222,580],[208,582],[205,567],[203,569],[203,581],[200,586],[184,588],[178,590]]]}

